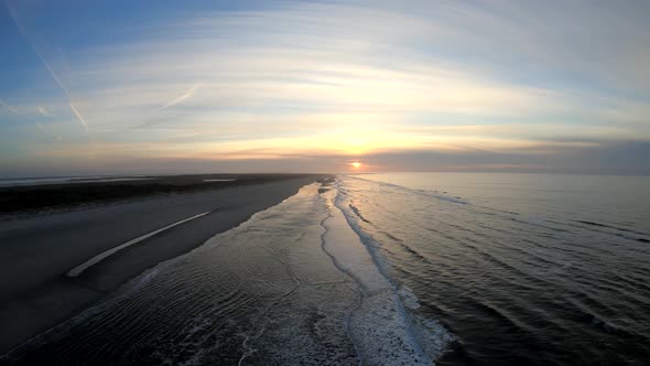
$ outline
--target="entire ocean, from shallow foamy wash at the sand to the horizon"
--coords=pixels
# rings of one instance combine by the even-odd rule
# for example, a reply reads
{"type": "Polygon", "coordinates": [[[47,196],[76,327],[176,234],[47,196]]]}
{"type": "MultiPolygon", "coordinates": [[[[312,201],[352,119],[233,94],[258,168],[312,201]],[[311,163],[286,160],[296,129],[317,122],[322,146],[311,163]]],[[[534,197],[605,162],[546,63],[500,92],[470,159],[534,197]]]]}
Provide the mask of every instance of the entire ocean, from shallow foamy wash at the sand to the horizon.
{"type": "Polygon", "coordinates": [[[338,175],[9,364],[644,365],[650,177],[338,175]]]}

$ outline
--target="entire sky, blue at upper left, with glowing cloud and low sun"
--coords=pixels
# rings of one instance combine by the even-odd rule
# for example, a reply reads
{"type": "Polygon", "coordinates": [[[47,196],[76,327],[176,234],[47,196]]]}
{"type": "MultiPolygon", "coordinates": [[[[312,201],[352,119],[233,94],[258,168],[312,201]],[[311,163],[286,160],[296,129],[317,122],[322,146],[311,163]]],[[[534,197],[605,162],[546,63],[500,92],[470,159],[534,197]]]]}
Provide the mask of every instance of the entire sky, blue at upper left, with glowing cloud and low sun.
{"type": "Polygon", "coordinates": [[[0,177],[650,174],[648,1],[0,1],[0,177]]]}

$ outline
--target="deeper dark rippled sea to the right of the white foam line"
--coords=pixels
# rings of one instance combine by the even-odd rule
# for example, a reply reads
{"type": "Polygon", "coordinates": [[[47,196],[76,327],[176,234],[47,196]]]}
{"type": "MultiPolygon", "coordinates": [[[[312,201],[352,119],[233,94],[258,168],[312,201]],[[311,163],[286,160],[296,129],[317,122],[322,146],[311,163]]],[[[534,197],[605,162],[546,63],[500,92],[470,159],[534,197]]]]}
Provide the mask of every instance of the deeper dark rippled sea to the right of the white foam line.
{"type": "Polygon", "coordinates": [[[441,364],[650,363],[648,177],[378,174],[339,205],[458,342],[441,364]]]}

